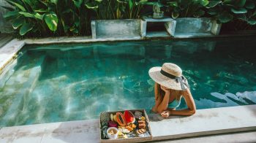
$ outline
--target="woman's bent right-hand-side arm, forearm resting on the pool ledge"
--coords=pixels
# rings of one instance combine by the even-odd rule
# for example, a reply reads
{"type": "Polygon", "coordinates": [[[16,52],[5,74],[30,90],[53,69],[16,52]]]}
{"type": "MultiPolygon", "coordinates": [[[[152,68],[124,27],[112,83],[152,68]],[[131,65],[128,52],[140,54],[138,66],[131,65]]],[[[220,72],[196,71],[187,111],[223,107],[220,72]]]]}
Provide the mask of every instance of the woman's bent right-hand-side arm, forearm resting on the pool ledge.
{"type": "Polygon", "coordinates": [[[195,111],[196,111],[195,101],[194,101],[194,98],[192,97],[192,94],[190,93],[189,88],[183,91],[182,95],[185,98],[188,109],[168,110],[169,115],[194,115],[195,114],[195,111]]]}

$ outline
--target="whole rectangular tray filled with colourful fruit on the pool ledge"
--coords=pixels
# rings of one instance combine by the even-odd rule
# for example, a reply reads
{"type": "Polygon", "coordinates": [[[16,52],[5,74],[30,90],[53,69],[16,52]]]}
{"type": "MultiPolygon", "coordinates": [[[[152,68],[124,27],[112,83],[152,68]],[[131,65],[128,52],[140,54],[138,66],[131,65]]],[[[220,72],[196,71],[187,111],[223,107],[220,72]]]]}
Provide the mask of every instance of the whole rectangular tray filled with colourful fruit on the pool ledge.
{"type": "Polygon", "coordinates": [[[101,142],[142,142],[152,139],[145,109],[100,113],[101,142]]]}

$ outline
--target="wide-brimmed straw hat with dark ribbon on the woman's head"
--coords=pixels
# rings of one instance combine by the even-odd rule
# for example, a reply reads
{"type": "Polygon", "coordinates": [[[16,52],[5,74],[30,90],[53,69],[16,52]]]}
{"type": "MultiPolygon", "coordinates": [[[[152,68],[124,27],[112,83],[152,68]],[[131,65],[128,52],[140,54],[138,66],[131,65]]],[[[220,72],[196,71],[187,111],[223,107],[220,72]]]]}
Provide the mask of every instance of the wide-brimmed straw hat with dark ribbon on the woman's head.
{"type": "Polygon", "coordinates": [[[156,66],[148,71],[149,76],[159,85],[173,90],[186,90],[189,88],[187,79],[182,75],[182,70],[174,63],[164,63],[162,67],[156,66]]]}

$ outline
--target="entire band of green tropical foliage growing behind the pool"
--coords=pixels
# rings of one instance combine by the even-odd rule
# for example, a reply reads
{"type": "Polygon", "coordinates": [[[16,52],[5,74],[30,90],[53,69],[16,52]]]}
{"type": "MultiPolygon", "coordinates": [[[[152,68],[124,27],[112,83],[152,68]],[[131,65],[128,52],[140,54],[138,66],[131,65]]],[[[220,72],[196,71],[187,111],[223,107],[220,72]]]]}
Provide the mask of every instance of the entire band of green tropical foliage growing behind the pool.
{"type": "Polygon", "coordinates": [[[241,20],[256,25],[255,0],[5,0],[4,18],[20,36],[84,36],[91,19],[135,19],[146,4],[172,18],[209,17],[218,23],[241,20]]]}

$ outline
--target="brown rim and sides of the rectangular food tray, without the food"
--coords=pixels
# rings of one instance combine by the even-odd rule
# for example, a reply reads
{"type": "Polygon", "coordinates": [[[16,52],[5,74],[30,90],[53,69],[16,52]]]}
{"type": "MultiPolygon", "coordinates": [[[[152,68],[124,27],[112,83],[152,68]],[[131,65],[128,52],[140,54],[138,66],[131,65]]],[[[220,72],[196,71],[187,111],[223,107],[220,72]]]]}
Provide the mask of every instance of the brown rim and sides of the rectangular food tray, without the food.
{"type": "MultiPolygon", "coordinates": [[[[129,110],[130,112],[132,112],[133,114],[135,114],[135,111],[138,112],[142,112],[143,116],[145,117],[146,120],[146,128],[148,130],[148,134],[150,134],[150,136],[146,136],[146,137],[133,137],[133,138],[129,138],[129,139],[102,139],[102,131],[101,131],[101,123],[99,120],[99,136],[100,136],[100,142],[148,142],[152,139],[152,133],[151,133],[151,128],[149,125],[149,120],[148,120],[148,115],[146,114],[145,109],[131,109],[129,110]]],[[[122,112],[124,113],[124,111],[115,111],[115,112],[102,112],[102,113],[108,113],[108,114],[116,114],[116,112],[122,112]]],[[[102,113],[100,113],[99,117],[102,117],[102,113]]]]}

